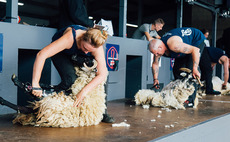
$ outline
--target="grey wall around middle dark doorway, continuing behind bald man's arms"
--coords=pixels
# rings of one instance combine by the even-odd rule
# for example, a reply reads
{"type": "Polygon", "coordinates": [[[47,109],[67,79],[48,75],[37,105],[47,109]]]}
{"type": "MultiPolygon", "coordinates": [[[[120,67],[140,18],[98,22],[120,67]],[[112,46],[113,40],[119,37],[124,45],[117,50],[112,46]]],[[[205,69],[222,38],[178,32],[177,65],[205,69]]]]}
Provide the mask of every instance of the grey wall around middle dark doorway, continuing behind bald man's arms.
{"type": "MultiPolygon", "coordinates": [[[[142,89],[147,88],[147,84],[153,84],[152,69],[150,66],[150,52],[147,49],[148,42],[143,40],[110,37],[109,44],[120,46],[119,70],[110,71],[107,83],[108,100],[125,98],[126,83],[126,56],[142,56],[142,89]]],[[[162,57],[159,80],[160,83],[168,84],[170,82],[170,59],[162,57]]],[[[135,77],[135,76],[134,76],[135,77]]]]}

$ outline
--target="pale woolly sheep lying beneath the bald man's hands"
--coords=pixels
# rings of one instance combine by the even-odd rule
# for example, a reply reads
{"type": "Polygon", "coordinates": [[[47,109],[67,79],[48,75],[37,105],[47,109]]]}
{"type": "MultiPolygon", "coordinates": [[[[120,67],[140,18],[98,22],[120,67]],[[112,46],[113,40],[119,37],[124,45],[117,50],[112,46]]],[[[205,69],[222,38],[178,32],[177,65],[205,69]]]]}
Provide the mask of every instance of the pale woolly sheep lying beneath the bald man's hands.
{"type": "MultiPolygon", "coordinates": [[[[161,92],[150,89],[139,90],[135,95],[137,105],[151,104],[156,107],[172,107],[175,109],[185,109],[184,102],[193,94],[195,87],[192,85],[192,75],[183,79],[177,79],[165,86],[161,92]]],[[[198,104],[196,98],[194,107],[198,104]]]]}

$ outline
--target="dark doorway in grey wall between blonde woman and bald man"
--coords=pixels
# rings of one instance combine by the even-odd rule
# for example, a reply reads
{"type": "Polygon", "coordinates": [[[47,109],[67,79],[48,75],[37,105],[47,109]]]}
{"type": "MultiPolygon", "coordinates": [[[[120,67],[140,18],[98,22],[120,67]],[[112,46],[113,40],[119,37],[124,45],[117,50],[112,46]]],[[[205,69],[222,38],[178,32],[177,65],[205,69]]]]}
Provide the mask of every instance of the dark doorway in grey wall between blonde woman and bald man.
{"type": "Polygon", "coordinates": [[[134,98],[141,89],[142,56],[126,56],[125,98],[134,98]]]}

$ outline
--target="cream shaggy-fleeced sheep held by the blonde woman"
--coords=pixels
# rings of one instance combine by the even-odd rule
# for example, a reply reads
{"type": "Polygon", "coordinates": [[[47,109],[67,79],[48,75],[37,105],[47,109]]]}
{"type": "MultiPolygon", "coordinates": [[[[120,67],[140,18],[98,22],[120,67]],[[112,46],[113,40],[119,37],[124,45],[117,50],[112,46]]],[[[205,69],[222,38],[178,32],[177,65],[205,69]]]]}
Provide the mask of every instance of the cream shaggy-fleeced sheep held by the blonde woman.
{"type": "Polygon", "coordinates": [[[97,125],[103,119],[105,112],[104,83],[98,85],[88,93],[79,107],[73,107],[76,95],[96,75],[94,71],[85,72],[76,69],[78,78],[72,85],[72,94],[69,96],[53,93],[40,101],[33,102],[33,108],[38,111],[33,114],[18,114],[14,123],[44,127],[79,127],[97,125]]]}

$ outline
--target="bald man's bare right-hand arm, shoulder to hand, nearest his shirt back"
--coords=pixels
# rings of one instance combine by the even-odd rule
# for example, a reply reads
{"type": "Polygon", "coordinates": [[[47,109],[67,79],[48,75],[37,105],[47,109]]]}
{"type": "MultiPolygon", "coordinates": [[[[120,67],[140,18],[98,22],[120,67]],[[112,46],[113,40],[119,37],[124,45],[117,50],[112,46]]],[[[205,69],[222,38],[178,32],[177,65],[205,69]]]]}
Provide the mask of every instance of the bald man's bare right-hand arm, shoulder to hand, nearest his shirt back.
{"type": "Polygon", "coordinates": [[[193,60],[193,77],[200,78],[200,73],[198,71],[198,65],[200,62],[200,49],[195,46],[183,43],[183,40],[179,36],[172,36],[169,38],[167,45],[170,50],[176,53],[191,54],[193,60]]]}

